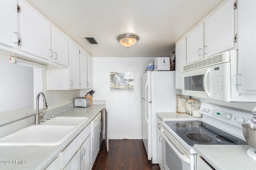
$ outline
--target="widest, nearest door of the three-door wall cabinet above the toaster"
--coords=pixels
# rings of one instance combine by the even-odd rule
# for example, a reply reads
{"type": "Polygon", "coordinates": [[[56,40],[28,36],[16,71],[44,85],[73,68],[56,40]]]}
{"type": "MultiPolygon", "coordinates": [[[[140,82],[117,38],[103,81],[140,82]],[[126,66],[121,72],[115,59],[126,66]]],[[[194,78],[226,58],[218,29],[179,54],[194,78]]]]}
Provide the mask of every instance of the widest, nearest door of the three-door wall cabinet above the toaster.
{"type": "Polygon", "coordinates": [[[80,88],[79,47],[69,41],[69,88],[80,88]]]}

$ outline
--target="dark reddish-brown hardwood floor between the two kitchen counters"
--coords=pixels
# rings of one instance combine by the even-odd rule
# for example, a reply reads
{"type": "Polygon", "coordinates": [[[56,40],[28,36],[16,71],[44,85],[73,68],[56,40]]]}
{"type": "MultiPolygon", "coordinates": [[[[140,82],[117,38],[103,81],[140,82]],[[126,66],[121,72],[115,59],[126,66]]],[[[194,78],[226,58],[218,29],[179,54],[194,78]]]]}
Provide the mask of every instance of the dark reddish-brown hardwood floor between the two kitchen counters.
{"type": "Polygon", "coordinates": [[[109,140],[108,151],[103,141],[92,170],[160,170],[147,159],[142,140],[109,140]]]}

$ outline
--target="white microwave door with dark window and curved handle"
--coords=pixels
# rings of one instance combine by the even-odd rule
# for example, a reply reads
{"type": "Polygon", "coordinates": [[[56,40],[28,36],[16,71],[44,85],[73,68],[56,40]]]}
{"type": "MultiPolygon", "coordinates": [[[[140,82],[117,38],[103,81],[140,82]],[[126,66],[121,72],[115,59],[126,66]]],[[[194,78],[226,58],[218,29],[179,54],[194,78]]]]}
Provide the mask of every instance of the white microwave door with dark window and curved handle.
{"type": "Polygon", "coordinates": [[[210,67],[182,72],[182,94],[211,98],[210,67]]]}

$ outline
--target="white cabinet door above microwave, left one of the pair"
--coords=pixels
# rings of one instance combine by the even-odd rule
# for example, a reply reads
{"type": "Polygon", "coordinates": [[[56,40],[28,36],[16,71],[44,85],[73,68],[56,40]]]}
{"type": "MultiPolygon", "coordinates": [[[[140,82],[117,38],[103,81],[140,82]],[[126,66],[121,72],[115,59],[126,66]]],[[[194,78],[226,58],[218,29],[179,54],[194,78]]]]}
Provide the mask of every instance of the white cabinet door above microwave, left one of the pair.
{"type": "Polygon", "coordinates": [[[198,25],[187,35],[187,64],[204,58],[204,23],[198,25]]]}

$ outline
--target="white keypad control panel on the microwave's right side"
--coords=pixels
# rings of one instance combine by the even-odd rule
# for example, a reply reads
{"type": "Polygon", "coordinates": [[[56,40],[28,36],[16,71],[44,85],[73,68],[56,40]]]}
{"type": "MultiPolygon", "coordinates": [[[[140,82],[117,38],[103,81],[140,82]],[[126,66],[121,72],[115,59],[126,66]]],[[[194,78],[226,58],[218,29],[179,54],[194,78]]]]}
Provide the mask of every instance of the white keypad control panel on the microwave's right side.
{"type": "Polygon", "coordinates": [[[211,67],[212,98],[224,99],[223,82],[223,65],[211,67]]]}

